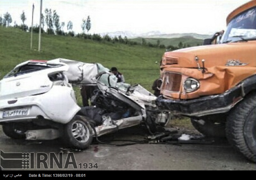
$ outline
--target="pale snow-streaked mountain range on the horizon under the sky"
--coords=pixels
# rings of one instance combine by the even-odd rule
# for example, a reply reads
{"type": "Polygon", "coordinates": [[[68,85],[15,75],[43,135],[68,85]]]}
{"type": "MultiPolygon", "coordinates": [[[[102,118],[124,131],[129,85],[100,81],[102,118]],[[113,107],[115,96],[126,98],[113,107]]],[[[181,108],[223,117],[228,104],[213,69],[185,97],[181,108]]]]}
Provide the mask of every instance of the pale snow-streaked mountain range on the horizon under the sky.
{"type": "Polygon", "coordinates": [[[212,37],[212,35],[202,35],[197,33],[172,33],[172,34],[163,34],[160,31],[150,31],[147,33],[136,34],[131,31],[116,31],[116,32],[107,32],[107,33],[100,33],[101,36],[109,35],[110,37],[118,37],[121,35],[122,37],[127,38],[136,38],[136,37],[143,37],[143,38],[180,38],[184,36],[191,36],[196,39],[206,39],[212,37]]]}

